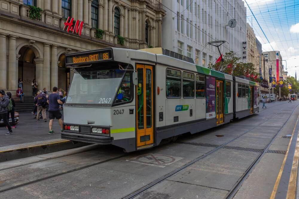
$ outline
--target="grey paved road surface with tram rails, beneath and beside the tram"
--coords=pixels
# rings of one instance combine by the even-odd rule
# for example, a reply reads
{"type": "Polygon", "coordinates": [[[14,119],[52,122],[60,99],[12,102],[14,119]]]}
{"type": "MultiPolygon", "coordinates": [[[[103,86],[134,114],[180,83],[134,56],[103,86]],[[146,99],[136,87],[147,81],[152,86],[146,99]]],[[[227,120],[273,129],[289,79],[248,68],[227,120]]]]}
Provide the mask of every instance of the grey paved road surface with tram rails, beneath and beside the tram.
{"type": "MultiPolygon", "coordinates": [[[[294,128],[298,104],[271,103],[247,118],[138,152],[86,146],[0,163],[0,198],[124,198],[173,171],[136,198],[226,198],[271,140],[269,149],[287,150],[290,139],[283,136],[294,128]]],[[[265,153],[234,197],[269,198],[284,156],[265,153]]]]}

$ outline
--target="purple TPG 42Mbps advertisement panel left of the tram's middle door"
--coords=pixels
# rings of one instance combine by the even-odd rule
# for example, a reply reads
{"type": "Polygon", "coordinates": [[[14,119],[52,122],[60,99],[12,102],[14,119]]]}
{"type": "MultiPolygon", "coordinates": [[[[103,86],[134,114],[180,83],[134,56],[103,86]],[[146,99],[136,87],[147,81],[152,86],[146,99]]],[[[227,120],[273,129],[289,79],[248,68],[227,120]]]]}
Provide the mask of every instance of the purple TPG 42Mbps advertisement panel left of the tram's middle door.
{"type": "Polygon", "coordinates": [[[216,117],[215,114],[215,81],[216,78],[206,76],[206,118],[212,119],[216,117]]]}

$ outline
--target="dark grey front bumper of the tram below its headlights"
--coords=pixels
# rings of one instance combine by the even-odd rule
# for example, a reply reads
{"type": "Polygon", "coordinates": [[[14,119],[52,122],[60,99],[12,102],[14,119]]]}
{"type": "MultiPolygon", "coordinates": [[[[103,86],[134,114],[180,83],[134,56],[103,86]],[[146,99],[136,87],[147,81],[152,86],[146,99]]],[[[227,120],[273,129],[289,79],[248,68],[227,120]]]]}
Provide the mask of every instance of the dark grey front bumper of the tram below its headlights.
{"type": "Polygon", "coordinates": [[[111,144],[112,138],[101,135],[87,135],[71,132],[61,132],[61,139],[78,141],[78,142],[87,142],[93,144],[111,144]]]}

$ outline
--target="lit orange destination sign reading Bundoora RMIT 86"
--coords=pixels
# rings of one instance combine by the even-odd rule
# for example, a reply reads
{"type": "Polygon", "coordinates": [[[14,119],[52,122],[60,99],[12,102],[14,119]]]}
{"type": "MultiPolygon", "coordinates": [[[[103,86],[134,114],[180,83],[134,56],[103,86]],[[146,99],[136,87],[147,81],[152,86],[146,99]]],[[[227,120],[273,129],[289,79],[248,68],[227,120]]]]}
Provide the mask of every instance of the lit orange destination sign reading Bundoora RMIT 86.
{"type": "Polygon", "coordinates": [[[87,55],[74,55],[66,58],[67,64],[80,64],[84,62],[102,61],[110,59],[109,52],[94,53],[87,55]]]}

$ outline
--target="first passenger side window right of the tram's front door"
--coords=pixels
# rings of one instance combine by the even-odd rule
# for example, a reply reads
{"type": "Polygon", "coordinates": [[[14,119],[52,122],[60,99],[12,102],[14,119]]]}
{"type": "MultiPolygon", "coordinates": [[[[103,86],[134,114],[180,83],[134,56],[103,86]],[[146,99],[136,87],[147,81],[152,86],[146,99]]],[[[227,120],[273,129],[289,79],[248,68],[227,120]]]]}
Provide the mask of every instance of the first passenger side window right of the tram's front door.
{"type": "Polygon", "coordinates": [[[181,72],[166,70],[166,97],[181,98],[181,72]]]}

